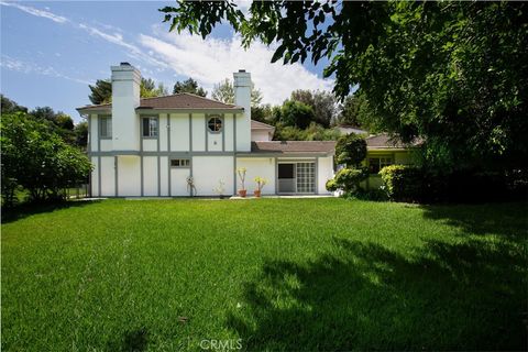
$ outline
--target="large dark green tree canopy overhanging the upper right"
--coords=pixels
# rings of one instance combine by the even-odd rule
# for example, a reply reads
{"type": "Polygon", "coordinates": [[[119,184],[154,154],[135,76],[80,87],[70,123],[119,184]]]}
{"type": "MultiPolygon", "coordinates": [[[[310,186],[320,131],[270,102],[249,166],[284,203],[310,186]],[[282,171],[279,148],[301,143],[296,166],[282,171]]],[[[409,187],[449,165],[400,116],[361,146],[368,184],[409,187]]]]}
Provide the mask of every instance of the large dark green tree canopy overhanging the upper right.
{"type": "Polygon", "coordinates": [[[367,99],[381,130],[425,140],[450,167],[520,167],[528,154],[528,4],[524,2],[228,2],[161,9],[170,31],[220,22],[277,45],[273,62],[327,57],[334,94],[367,99]]]}

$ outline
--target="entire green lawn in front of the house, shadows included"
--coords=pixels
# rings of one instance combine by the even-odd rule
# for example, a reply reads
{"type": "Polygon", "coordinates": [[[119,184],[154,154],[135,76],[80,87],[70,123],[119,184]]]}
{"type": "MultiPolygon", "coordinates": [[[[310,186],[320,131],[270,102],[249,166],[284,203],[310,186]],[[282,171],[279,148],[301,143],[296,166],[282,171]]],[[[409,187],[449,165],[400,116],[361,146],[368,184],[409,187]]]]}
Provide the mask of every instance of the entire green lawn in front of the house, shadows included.
{"type": "Polygon", "coordinates": [[[20,213],[2,224],[1,346],[526,349],[527,210],[117,199],[20,213]]]}

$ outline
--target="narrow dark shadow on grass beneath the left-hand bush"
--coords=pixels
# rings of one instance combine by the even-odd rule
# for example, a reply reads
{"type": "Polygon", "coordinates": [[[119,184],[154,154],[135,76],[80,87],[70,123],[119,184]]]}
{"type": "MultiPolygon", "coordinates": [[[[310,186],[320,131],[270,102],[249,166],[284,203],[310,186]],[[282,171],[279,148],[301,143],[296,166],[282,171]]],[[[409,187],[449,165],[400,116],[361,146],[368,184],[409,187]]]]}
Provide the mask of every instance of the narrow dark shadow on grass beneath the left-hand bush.
{"type": "Polygon", "coordinates": [[[51,204],[22,204],[13,208],[2,208],[2,223],[13,222],[37,213],[85,207],[99,201],[100,200],[65,200],[51,204]]]}

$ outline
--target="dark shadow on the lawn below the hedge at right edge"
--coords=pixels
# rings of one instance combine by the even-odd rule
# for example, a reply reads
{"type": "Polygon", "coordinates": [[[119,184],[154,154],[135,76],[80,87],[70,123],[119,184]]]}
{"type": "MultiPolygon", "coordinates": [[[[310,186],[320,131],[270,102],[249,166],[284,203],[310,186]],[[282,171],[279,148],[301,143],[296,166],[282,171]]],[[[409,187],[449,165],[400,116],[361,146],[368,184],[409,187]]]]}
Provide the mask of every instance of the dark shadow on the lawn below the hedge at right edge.
{"type": "Polygon", "coordinates": [[[528,235],[528,202],[422,206],[426,219],[444,221],[462,234],[496,234],[508,240],[528,235]]]}

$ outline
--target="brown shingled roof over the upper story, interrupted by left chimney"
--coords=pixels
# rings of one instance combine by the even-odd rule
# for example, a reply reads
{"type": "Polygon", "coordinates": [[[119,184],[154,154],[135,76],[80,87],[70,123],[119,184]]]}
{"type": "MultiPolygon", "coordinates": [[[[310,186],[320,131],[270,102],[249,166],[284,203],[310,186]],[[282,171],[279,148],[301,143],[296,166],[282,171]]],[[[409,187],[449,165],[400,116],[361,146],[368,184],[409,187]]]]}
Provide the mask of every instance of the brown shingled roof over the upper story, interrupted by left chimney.
{"type": "MultiPolygon", "coordinates": [[[[97,106],[86,106],[77,108],[77,110],[101,110],[111,109],[111,103],[102,103],[97,106]]],[[[217,100],[204,98],[188,92],[182,92],[165,97],[141,98],[138,109],[222,109],[222,110],[240,110],[241,107],[223,103],[217,100]]]]}

